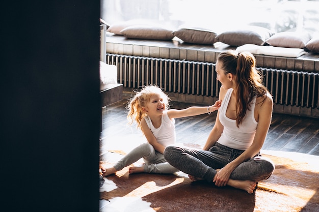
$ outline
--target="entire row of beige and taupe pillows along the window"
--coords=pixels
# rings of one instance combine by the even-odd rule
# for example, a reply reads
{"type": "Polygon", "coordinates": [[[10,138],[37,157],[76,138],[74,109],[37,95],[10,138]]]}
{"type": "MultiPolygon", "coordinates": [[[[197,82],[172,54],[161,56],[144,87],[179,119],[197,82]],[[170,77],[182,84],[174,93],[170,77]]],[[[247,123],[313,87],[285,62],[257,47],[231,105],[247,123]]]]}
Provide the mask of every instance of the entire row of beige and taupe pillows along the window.
{"type": "Polygon", "coordinates": [[[184,42],[193,44],[212,45],[216,42],[222,42],[230,46],[271,45],[319,52],[319,38],[311,38],[308,33],[282,32],[274,34],[269,29],[259,26],[245,26],[217,34],[209,29],[199,27],[183,27],[172,31],[157,25],[122,22],[109,26],[107,31],[132,39],[172,40],[177,37],[184,42]]]}

